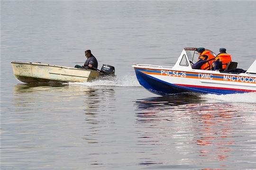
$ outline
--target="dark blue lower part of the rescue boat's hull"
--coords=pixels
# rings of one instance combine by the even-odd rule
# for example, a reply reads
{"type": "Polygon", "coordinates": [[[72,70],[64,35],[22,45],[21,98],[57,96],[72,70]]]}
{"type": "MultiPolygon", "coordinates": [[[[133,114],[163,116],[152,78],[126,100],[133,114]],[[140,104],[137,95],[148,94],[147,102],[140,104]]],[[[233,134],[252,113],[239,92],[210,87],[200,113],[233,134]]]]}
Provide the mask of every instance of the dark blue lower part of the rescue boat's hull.
{"type": "Polygon", "coordinates": [[[146,88],[151,93],[165,96],[177,93],[211,93],[211,94],[232,94],[232,93],[246,93],[246,91],[220,89],[220,88],[206,88],[200,86],[179,86],[164,82],[153,76],[146,75],[135,69],[135,73],[140,85],[146,88]]]}

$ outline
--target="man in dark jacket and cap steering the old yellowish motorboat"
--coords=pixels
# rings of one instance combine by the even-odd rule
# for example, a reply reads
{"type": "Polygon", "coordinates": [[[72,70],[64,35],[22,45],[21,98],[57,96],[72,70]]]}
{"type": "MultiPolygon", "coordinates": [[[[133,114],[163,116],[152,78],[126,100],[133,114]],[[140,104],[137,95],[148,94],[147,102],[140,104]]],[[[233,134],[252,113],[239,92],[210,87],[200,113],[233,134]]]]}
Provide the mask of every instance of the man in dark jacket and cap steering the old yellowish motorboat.
{"type": "Polygon", "coordinates": [[[84,55],[87,58],[83,66],[75,65],[75,68],[94,69],[98,68],[98,61],[91,53],[91,50],[84,51],[84,55]]]}

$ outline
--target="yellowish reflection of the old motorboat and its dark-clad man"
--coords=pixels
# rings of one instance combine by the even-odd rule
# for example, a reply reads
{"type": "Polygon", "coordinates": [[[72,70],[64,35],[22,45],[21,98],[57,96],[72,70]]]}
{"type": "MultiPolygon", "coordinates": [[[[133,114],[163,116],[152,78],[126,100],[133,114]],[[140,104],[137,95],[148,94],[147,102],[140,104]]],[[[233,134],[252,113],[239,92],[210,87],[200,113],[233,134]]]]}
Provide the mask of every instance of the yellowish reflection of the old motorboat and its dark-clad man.
{"type": "MultiPolygon", "coordinates": [[[[106,122],[99,114],[108,115],[117,110],[115,90],[112,87],[61,84],[20,84],[13,87],[12,103],[16,106],[13,111],[25,115],[22,119],[36,122],[37,115],[40,118],[47,116],[45,119],[48,122],[54,122],[54,119],[63,119],[62,115],[66,112],[70,112],[72,119],[83,113],[88,133],[82,139],[88,140],[88,143],[94,140],[96,131],[106,122]]],[[[70,121],[70,118],[66,121],[70,121]]]]}

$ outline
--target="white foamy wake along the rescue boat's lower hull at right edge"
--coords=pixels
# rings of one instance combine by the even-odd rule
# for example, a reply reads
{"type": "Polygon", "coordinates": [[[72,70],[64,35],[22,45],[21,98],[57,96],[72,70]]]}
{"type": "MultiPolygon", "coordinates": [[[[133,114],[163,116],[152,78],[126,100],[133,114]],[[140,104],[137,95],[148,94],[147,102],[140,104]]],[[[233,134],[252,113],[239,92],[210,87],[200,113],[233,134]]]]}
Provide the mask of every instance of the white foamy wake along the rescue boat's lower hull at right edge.
{"type": "Polygon", "coordinates": [[[215,99],[223,102],[243,102],[256,103],[256,93],[236,93],[236,94],[201,94],[201,97],[215,99]]]}

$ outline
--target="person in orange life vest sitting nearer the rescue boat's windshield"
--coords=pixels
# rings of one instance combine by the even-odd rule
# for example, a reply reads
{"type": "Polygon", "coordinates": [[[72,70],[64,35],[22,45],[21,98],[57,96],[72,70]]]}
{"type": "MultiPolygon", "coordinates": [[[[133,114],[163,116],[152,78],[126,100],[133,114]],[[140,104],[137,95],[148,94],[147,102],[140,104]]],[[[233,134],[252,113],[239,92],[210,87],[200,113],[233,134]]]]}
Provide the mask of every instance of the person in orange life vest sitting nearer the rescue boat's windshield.
{"type": "Polygon", "coordinates": [[[193,69],[210,70],[211,63],[215,60],[215,57],[210,54],[210,51],[205,51],[205,48],[200,47],[198,51],[198,60],[192,65],[193,69]]]}

